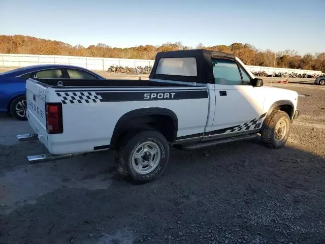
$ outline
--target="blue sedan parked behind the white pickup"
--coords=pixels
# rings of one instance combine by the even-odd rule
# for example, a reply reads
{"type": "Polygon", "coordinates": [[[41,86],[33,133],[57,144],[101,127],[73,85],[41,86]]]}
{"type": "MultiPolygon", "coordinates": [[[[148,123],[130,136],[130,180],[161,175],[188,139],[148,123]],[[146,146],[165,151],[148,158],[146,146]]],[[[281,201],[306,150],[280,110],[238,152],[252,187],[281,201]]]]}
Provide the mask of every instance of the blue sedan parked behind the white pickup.
{"type": "Polygon", "coordinates": [[[90,70],[70,65],[35,65],[0,73],[0,112],[26,119],[25,85],[28,78],[105,79],[90,70]]]}

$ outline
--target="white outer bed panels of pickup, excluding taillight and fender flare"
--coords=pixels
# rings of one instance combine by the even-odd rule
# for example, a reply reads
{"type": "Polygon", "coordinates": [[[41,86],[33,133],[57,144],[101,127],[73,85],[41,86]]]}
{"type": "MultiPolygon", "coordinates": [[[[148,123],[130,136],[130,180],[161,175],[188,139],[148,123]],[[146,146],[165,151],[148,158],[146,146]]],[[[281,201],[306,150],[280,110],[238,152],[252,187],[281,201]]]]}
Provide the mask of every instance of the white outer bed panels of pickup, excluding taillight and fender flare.
{"type": "MultiPolygon", "coordinates": [[[[121,92],[121,88],[118,87],[46,88],[29,79],[27,80],[26,90],[29,125],[39,135],[40,141],[50,153],[55,155],[88,152],[93,151],[93,148],[97,146],[110,145],[117,121],[127,112],[141,108],[166,108],[177,114],[177,137],[202,133],[206,127],[209,108],[208,89],[205,86],[190,88],[146,87],[145,89],[144,87],[130,87],[123,88],[121,92]],[[44,90],[44,98],[37,96],[40,90],[44,90]],[[167,96],[168,94],[172,98],[174,94],[197,92],[202,92],[202,95],[199,94],[199,96],[204,98],[155,101],[144,98],[149,94],[150,96],[152,94],[167,96]],[[104,96],[123,97],[117,98],[118,101],[107,101],[103,94],[104,96]],[[129,98],[138,94],[141,96],[141,101],[133,101],[134,99],[129,98]],[[36,95],[36,101],[33,101],[34,95],[36,95]],[[85,102],[87,96],[92,98],[88,99],[89,103],[85,102]],[[97,99],[94,99],[95,96],[97,99]],[[45,104],[61,103],[64,101],[62,97],[68,98],[67,104],[62,104],[63,133],[48,134],[46,131],[45,104]],[[80,100],[82,103],[72,100],[72,97],[83,97],[80,100]],[[131,101],[123,101],[128,99],[131,101]],[[37,112],[38,110],[41,112],[37,112]],[[189,112],[193,110],[196,112],[189,112]],[[41,114],[44,116],[42,117],[41,114]]],[[[196,95],[194,94],[194,96],[196,95]]]]}

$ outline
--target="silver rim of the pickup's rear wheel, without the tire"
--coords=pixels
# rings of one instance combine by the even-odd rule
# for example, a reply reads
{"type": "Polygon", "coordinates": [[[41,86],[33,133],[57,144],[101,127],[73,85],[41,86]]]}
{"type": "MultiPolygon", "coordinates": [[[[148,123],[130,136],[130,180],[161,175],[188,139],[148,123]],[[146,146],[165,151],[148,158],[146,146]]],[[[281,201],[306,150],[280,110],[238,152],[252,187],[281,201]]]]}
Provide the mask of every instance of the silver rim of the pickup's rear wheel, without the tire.
{"type": "Polygon", "coordinates": [[[159,164],[160,149],[151,141],[140,144],[133,153],[132,166],[139,174],[151,173],[159,164]]]}

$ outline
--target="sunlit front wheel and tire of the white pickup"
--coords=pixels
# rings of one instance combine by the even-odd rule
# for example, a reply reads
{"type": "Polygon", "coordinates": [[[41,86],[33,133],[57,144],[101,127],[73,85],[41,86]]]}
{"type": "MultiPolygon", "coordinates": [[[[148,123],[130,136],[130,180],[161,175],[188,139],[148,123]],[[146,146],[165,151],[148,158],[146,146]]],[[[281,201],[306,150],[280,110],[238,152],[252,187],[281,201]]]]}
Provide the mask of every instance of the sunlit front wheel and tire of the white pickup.
{"type": "Polygon", "coordinates": [[[289,137],[290,125],[290,118],[286,112],[273,110],[264,120],[261,131],[262,141],[271,148],[284,146],[289,137]]]}

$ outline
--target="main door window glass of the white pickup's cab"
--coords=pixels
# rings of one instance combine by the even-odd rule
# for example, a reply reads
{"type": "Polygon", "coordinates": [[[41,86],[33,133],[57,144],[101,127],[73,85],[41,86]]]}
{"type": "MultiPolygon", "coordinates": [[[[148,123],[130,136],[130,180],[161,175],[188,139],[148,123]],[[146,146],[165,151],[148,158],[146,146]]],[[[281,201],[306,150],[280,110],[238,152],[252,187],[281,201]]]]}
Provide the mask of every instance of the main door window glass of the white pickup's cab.
{"type": "Polygon", "coordinates": [[[212,59],[214,82],[218,85],[242,85],[238,66],[234,60],[212,59]]]}

